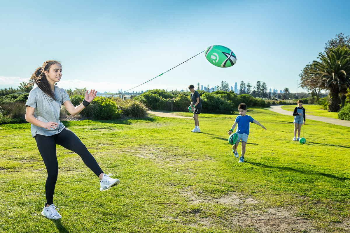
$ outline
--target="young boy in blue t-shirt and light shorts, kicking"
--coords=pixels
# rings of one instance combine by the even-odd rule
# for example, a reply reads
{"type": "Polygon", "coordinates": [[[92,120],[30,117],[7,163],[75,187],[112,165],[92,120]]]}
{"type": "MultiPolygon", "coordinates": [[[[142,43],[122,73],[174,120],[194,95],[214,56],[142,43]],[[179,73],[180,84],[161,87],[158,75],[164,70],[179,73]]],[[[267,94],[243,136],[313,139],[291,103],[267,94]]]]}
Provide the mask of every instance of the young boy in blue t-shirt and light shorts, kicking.
{"type": "Polygon", "coordinates": [[[238,158],[237,147],[238,147],[239,141],[241,140],[242,153],[238,162],[244,162],[245,145],[247,143],[248,134],[249,134],[249,123],[251,122],[251,123],[260,125],[264,130],[266,130],[266,128],[262,124],[260,124],[258,121],[255,121],[251,116],[246,115],[247,105],[245,103],[240,103],[238,105],[238,112],[239,112],[239,116],[236,117],[235,123],[232,125],[232,128],[229,130],[229,135],[233,133],[233,129],[235,129],[237,124],[236,133],[238,134],[238,140],[236,144],[232,145],[232,152],[235,155],[235,157],[238,158]]]}

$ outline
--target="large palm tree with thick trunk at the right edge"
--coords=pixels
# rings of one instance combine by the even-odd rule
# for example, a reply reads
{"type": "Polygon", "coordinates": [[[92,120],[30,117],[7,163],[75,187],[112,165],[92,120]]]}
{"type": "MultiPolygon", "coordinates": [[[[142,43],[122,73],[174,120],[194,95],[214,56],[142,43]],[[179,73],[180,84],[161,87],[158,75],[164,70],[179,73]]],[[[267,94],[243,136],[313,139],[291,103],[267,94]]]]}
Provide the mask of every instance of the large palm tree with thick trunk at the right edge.
{"type": "Polygon", "coordinates": [[[329,112],[340,109],[339,93],[350,87],[350,49],[338,46],[326,54],[319,53],[321,61],[313,61],[310,74],[319,77],[318,87],[329,90],[329,112]],[[346,88],[345,88],[346,87],[346,88]]]}

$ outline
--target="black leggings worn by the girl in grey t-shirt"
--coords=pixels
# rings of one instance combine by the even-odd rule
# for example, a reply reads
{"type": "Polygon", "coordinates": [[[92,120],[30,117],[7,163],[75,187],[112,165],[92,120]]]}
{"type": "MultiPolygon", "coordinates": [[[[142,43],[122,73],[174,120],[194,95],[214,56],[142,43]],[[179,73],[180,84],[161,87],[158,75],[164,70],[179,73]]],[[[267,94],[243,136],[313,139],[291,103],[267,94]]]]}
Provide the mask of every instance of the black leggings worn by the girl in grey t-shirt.
{"type": "Polygon", "coordinates": [[[77,153],[82,158],[85,165],[90,168],[95,175],[99,176],[103,173],[102,169],[93,158],[92,154],[87,150],[86,146],[80,141],[75,133],[67,128],[64,128],[60,133],[52,136],[36,134],[35,141],[47,170],[45,195],[46,203],[48,205],[54,203],[53,198],[58,175],[56,145],[63,146],[64,148],[77,153]]]}

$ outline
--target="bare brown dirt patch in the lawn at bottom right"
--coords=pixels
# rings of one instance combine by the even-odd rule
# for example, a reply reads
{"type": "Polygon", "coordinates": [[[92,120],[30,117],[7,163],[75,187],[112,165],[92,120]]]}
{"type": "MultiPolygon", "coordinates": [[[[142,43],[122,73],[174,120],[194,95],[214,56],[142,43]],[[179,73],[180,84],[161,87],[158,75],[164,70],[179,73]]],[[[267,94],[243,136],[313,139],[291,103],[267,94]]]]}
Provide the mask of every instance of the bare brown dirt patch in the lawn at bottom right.
{"type": "MultiPolygon", "coordinates": [[[[325,232],[324,230],[315,230],[313,221],[302,217],[294,217],[296,212],[293,207],[273,207],[268,209],[247,210],[246,206],[259,204],[259,201],[251,197],[244,197],[236,193],[230,193],[220,198],[200,197],[190,191],[182,191],[181,195],[188,198],[192,204],[200,203],[217,203],[222,205],[229,205],[239,209],[232,217],[222,219],[222,224],[225,227],[235,228],[251,228],[259,233],[272,232],[305,232],[318,233],[325,232]]],[[[196,223],[184,224],[193,227],[214,226],[217,221],[210,217],[200,217],[200,213],[194,213],[196,223]]],[[[178,219],[177,219],[178,220],[178,219]]],[[[350,220],[342,221],[341,223],[334,223],[328,226],[329,228],[338,228],[341,232],[348,232],[350,228],[350,220]]]]}

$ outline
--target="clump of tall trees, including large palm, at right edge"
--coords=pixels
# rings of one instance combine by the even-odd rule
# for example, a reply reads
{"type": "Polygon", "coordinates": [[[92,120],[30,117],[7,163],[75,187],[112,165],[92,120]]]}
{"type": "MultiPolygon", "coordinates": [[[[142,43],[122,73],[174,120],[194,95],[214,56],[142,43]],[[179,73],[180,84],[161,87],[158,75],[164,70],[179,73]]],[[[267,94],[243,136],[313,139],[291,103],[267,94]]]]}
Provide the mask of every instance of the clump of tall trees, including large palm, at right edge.
{"type": "Polygon", "coordinates": [[[325,43],[324,52],[307,64],[299,74],[300,87],[317,100],[321,90],[329,91],[329,112],[338,112],[346,104],[350,87],[350,36],[339,33],[325,43]]]}

